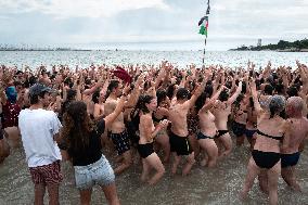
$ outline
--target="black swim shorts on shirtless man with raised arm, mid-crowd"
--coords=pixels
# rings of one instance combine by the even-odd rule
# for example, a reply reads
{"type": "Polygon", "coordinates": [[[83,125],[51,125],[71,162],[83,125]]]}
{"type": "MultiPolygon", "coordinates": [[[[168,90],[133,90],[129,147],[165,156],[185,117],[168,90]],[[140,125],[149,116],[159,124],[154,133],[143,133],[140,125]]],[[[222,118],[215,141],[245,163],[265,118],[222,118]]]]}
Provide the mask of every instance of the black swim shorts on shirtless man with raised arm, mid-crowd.
{"type": "Polygon", "coordinates": [[[174,132],[169,136],[170,151],[176,152],[177,155],[190,155],[193,150],[188,137],[179,137],[174,132]]]}

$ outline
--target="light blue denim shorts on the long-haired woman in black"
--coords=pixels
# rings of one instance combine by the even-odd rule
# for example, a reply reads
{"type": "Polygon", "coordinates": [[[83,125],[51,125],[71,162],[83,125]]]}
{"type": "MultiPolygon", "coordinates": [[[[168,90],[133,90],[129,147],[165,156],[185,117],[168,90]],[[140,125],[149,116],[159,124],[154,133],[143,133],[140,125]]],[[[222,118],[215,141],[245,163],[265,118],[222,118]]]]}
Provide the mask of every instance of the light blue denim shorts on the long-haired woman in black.
{"type": "Polygon", "coordinates": [[[79,190],[90,190],[95,183],[104,187],[115,181],[114,170],[104,155],[93,164],[74,166],[74,169],[76,187],[79,190]]]}

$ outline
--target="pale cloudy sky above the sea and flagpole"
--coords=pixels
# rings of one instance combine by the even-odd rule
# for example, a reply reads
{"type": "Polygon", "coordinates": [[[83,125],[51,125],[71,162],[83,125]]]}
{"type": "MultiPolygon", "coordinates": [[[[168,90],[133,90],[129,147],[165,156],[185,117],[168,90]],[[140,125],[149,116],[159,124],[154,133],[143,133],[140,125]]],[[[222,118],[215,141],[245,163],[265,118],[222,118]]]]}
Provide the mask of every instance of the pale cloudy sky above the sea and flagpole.
{"type": "MultiPolygon", "coordinates": [[[[0,44],[200,50],[206,0],[0,0],[0,44]]],[[[206,49],[308,37],[307,0],[210,0],[206,49]]]]}

